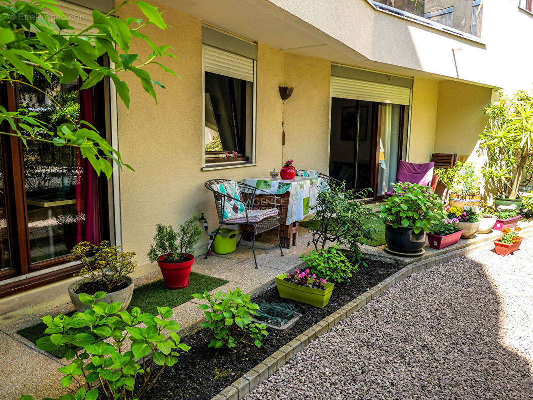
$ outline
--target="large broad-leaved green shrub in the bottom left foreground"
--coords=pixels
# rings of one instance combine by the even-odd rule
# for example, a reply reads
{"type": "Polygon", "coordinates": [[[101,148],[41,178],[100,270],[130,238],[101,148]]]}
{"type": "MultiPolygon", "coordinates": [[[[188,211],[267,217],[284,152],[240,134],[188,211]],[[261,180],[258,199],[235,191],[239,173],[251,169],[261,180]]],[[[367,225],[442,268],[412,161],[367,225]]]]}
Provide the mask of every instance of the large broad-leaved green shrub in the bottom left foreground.
{"type": "MultiPolygon", "coordinates": [[[[75,383],[78,393],[82,390],[80,399],[96,399],[98,385],[104,398],[139,399],[159,378],[160,374],[152,377],[154,364],[163,369],[167,365],[173,366],[179,356],[177,349],[189,351],[190,347],[181,343],[176,333],[180,325],[171,321],[171,308],[158,307],[158,316],[141,314],[139,308],[134,308],[130,314],[119,311],[120,303],[108,305],[98,302],[105,295],[105,292],[98,292],[94,296],[80,294],[80,301],[92,306],[85,313],[75,313],[71,317],[63,314],[55,318],[44,317],[43,322],[48,326],[45,333],[50,336],[39,339],[37,347],[44,351],[65,348],[65,358],[72,362],[59,369],[65,374],[61,385],[69,387],[75,383]],[[135,326],[141,322],[146,327],[135,326]],[[132,343],[131,350],[123,353],[122,348],[127,340],[132,343]],[[150,353],[154,353],[151,362],[145,359],[138,364],[150,353]],[[91,356],[91,362],[85,364],[91,356]],[[141,384],[138,385],[140,375],[141,384]],[[85,384],[86,393],[82,387],[85,384]]],[[[61,400],[69,399],[79,400],[78,395],[61,397],[61,400]]]]}

